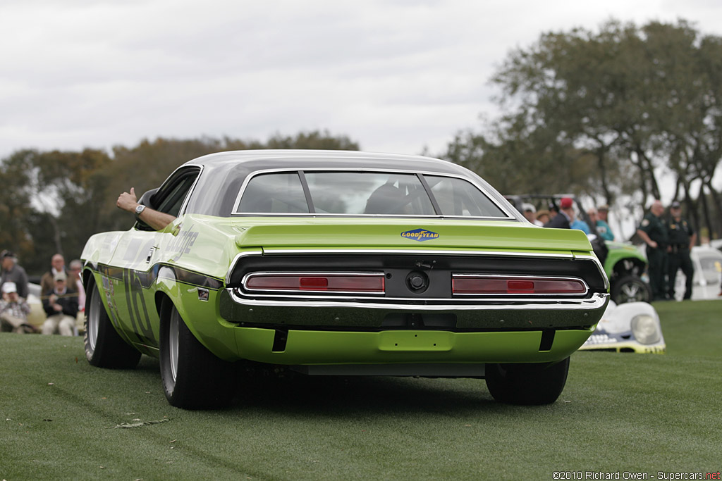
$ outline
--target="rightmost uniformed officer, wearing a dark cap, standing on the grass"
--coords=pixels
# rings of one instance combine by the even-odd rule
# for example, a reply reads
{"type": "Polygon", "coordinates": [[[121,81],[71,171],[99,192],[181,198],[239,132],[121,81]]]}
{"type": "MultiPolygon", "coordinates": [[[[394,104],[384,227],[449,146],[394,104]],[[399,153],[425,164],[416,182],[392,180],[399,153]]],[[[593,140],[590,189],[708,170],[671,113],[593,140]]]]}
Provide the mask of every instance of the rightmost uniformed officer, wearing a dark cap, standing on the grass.
{"type": "Polygon", "coordinates": [[[690,250],[697,242],[697,233],[692,226],[682,219],[682,206],[679,202],[673,202],[669,206],[670,218],[667,221],[667,235],[669,237],[669,248],[667,250],[669,262],[669,286],[668,292],[671,298],[674,298],[674,281],[677,278],[677,270],[682,268],[682,272],[687,277],[684,286],[684,299],[692,297],[692,276],[695,275],[695,268],[690,258],[690,250]]]}

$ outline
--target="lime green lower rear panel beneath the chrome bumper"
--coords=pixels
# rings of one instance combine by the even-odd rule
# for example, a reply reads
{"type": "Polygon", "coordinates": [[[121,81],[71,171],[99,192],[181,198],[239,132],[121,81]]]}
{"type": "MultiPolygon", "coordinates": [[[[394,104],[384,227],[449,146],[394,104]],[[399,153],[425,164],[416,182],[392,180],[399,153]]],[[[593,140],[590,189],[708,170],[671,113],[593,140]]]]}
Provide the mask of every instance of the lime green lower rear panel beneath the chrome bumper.
{"type": "MultiPolygon", "coordinates": [[[[234,332],[240,358],[251,361],[289,366],[449,364],[451,375],[458,371],[454,364],[560,361],[584,343],[591,329],[554,330],[551,342],[548,330],[353,332],[235,327],[234,332]]],[[[443,375],[443,369],[435,372],[443,375]]],[[[414,370],[405,373],[414,375],[414,370]]],[[[423,370],[417,375],[424,375],[423,370]]]]}

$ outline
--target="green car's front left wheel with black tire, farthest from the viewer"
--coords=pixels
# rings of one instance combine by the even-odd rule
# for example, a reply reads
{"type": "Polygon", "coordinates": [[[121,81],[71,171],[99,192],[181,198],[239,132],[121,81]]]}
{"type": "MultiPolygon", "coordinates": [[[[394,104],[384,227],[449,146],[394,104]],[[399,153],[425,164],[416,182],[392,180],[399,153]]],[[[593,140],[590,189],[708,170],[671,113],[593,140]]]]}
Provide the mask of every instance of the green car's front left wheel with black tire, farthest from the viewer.
{"type": "Polygon", "coordinates": [[[92,366],[108,369],[133,369],[141,353],[126,343],[110,322],[95,279],[85,289],[85,357],[92,366]]]}

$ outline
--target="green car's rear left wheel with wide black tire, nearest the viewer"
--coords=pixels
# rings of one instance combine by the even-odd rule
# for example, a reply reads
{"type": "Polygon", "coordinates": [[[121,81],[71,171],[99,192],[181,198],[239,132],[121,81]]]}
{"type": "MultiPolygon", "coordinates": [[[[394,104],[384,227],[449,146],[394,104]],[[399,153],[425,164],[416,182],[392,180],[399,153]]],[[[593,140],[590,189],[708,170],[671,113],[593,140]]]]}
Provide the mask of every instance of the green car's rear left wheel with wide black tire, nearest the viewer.
{"type": "Polygon", "coordinates": [[[166,299],[160,320],[160,376],[170,405],[215,409],[233,398],[232,363],[214,356],[166,299]]]}

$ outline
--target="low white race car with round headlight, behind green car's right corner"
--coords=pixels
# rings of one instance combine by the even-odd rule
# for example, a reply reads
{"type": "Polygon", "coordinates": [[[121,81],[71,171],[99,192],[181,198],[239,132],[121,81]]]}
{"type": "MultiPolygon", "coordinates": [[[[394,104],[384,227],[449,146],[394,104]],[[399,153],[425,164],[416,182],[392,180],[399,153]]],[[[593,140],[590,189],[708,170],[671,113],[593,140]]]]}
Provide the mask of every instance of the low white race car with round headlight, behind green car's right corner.
{"type": "Polygon", "coordinates": [[[651,304],[610,301],[596,330],[579,350],[613,350],[617,353],[664,354],[659,316],[651,304]]]}

